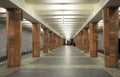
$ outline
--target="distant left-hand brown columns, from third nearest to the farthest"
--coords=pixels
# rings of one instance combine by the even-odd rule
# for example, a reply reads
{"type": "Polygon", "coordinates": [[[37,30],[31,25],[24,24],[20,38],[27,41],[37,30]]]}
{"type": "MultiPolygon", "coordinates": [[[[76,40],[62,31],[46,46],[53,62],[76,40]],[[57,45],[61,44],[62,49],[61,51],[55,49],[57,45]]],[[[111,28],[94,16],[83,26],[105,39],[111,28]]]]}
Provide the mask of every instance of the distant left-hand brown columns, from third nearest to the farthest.
{"type": "Polygon", "coordinates": [[[48,53],[49,50],[56,49],[63,44],[63,39],[53,32],[49,32],[48,29],[44,29],[43,34],[44,44],[43,52],[48,53]]]}

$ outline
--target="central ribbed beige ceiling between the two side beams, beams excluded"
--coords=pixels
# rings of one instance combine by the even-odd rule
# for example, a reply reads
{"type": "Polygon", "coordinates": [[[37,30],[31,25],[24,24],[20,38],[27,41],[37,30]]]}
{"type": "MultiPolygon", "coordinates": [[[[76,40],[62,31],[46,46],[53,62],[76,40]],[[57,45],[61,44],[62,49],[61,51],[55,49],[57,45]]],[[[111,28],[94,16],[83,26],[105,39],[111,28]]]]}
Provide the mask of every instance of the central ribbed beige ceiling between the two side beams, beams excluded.
{"type": "Polygon", "coordinates": [[[56,32],[72,38],[89,18],[99,0],[25,0],[56,32]]]}

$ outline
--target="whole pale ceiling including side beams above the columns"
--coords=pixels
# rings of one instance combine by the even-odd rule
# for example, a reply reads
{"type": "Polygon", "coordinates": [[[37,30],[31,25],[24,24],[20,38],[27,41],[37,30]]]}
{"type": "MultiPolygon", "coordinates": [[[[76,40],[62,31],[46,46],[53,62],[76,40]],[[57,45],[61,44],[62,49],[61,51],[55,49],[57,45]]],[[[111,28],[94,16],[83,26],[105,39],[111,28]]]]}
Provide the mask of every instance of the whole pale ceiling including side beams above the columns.
{"type": "Polygon", "coordinates": [[[20,8],[30,22],[40,22],[63,38],[74,38],[90,21],[102,19],[102,9],[119,0],[4,0],[0,7],[20,8]]]}

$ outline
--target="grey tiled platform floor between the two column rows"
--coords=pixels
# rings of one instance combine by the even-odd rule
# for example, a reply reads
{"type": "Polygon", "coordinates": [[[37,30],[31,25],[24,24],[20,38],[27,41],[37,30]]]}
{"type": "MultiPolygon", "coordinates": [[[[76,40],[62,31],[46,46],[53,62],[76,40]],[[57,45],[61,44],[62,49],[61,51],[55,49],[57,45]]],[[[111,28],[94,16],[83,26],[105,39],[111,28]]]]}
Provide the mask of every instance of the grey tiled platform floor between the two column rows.
{"type": "Polygon", "coordinates": [[[31,57],[25,61],[19,68],[6,68],[0,72],[0,77],[113,77],[72,46],[62,46],[40,58],[31,57]]]}

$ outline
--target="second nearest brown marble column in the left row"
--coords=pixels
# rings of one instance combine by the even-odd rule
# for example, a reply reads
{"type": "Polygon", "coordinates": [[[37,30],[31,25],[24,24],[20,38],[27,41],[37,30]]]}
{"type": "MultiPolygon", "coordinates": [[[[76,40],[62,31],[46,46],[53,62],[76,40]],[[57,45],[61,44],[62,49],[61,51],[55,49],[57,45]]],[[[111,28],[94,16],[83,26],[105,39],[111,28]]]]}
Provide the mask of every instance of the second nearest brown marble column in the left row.
{"type": "Polygon", "coordinates": [[[40,24],[33,23],[32,27],[32,46],[33,57],[40,57],[40,24]]]}

